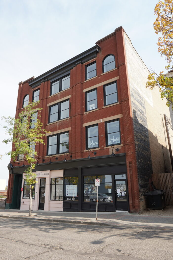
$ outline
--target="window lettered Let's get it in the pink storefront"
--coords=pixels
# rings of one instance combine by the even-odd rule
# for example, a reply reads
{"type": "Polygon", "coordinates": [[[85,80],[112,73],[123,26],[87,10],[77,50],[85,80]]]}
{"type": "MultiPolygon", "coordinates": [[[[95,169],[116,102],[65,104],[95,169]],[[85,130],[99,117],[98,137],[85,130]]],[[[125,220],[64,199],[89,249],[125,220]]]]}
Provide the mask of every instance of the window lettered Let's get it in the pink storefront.
{"type": "Polygon", "coordinates": [[[63,178],[51,178],[50,200],[63,201],[63,178]]]}

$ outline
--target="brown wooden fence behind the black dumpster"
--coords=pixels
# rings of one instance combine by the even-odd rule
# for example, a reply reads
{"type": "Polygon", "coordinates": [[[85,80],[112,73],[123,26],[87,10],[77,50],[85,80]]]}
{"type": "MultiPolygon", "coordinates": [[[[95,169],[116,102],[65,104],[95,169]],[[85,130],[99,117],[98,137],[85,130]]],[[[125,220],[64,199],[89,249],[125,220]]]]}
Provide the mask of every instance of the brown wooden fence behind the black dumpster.
{"type": "Polygon", "coordinates": [[[166,205],[173,205],[173,173],[152,174],[156,189],[165,190],[166,205]]]}

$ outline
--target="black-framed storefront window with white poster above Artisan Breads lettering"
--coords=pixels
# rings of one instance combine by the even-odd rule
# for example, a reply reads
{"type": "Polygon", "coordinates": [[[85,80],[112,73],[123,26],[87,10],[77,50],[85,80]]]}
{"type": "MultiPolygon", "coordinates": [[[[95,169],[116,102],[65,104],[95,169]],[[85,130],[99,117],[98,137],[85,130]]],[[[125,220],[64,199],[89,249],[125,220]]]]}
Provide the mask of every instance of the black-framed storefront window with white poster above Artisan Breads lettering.
{"type": "Polygon", "coordinates": [[[64,178],[64,200],[78,201],[78,177],[64,178]]]}

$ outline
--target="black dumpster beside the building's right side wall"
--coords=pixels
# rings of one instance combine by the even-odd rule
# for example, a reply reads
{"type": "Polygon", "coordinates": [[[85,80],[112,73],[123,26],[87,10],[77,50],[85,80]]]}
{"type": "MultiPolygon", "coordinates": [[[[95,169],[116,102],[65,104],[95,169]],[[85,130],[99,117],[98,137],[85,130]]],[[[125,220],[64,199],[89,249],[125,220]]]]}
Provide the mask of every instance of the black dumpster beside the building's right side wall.
{"type": "Polygon", "coordinates": [[[157,190],[153,185],[153,181],[151,182],[151,186],[153,187],[153,191],[146,193],[148,199],[148,207],[150,209],[162,209],[165,207],[165,191],[157,190]]]}

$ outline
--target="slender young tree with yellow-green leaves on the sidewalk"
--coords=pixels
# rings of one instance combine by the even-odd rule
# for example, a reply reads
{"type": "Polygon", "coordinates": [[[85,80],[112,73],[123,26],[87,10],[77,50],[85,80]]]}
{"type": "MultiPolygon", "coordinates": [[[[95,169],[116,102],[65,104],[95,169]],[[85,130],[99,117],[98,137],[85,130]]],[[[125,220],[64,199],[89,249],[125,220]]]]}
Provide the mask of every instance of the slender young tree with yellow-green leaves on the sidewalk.
{"type": "Polygon", "coordinates": [[[29,185],[29,217],[31,216],[31,206],[32,206],[32,197],[31,190],[33,188],[33,184],[36,183],[36,174],[33,173],[33,169],[35,168],[36,157],[38,156],[37,152],[33,147],[37,144],[44,144],[43,137],[46,133],[48,133],[45,129],[43,129],[43,124],[37,118],[40,116],[40,110],[42,108],[37,108],[39,104],[38,102],[32,102],[27,105],[24,110],[18,114],[17,119],[12,118],[11,116],[2,117],[7,123],[7,126],[4,126],[5,133],[9,135],[7,139],[4,139],[3,142],[8,144],[13,142],[12,151],[6,153],[7,155],[11,155],[11,159],[16,161],[16,159],[20,156],[23,160],[28,161],[30,165],[25,170],[25,179],[26,184],[29,185]]]}

